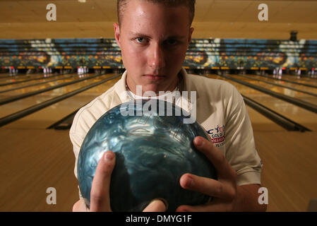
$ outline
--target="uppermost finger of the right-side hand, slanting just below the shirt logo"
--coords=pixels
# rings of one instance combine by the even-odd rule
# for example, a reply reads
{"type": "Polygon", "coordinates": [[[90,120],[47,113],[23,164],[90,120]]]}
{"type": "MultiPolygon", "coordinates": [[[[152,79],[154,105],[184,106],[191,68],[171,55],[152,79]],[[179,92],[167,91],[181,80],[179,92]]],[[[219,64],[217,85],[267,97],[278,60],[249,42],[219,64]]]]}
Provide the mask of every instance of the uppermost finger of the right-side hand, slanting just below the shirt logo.
{"type": "Polygon", "coordinates": [[[229,165],[225,155],[213,145],[210,141],[207,141],[201,136],[197,136],[193,139],[193,144],[198,150],[205,154],[206,157],[213,163],[217,174],[222,178],[232,178],[235,175],[234,169],[229,165]]]}

